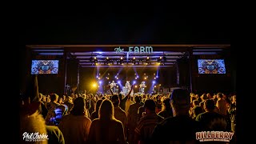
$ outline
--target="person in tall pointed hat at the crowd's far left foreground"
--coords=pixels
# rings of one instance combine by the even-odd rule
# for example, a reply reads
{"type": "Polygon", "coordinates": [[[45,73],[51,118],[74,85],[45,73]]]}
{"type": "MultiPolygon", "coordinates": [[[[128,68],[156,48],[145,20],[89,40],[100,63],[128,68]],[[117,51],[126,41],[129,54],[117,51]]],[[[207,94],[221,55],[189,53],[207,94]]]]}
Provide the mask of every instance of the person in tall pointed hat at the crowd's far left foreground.
{"type": "Polygon", "coordinates": [[[33,75],[27,78],[26,90],[20,101],[19,143],[65,144],[62,131],[57,126],[46,126],[45,119],[39,113],[40,106],[38,78],[37,75],[33,75]],[[37,137],[40,134],[45,137],[37,137]]]}

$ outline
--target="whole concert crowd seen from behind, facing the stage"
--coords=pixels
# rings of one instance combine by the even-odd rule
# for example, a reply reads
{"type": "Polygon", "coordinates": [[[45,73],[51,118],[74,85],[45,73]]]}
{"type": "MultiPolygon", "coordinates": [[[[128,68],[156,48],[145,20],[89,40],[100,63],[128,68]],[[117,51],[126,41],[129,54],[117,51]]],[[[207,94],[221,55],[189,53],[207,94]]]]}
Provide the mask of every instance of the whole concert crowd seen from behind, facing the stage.
{"type": "MultiPolygon", "coordinates": [[[[21,101],[21,135],[46,133],[48,143],[198,143],[200,131],[234,132],[236,95],[38,94],[21,101]]],[[[21,141],[22,140],[21,138],[21,141]]]]}

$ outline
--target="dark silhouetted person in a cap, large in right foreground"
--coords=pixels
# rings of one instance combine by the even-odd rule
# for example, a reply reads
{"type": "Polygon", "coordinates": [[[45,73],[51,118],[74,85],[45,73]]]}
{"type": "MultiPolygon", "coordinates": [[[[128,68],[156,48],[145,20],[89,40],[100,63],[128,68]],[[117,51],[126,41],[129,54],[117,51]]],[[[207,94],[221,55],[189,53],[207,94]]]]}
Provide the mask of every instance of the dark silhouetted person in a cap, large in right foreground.
{"type": "Polygon", "coordinates": [[[188,90],[175,89],[170,97],[173,117],[164,119],[155,126],[151,143],[197,142],[198,122],[190,118],[190,93],[188,90]]]}

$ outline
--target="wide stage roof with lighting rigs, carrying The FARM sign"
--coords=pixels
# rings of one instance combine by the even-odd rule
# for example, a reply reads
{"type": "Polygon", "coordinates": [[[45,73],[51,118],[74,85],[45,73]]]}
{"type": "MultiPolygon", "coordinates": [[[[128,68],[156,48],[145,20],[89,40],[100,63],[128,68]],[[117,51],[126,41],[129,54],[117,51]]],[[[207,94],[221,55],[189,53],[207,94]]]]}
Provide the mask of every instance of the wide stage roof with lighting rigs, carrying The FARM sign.
{"type": "Polygon", "coordinates": [[[230,45],[27,45],[36,55],[64,56],[77,59],[81,67],[170,67],[178,59],[193,55],[223,54],[230,45]],[[149,52],[140,51],[152,48],[149,52]],[[123,51],[117,51],[123,50],[123,51]],[[129,51],[132,50],[132,51],[129,51]],[[97,61],[95,61],[97,60],[97,61]]]}

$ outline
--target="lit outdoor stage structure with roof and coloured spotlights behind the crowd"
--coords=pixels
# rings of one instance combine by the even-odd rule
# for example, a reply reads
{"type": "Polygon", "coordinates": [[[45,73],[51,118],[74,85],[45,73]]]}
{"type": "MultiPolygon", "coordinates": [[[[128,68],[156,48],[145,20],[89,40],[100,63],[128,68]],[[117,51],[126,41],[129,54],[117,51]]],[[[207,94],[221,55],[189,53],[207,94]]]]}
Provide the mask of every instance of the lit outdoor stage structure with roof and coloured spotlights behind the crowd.
{"type": "MultiPolygon", "coordinates": [[[[230,54],[230,45],[221,44],[27,45],[26,47],[32,52],[30,56],[32,60],[58,60],[58,74],[48,74],[47,76],[42,74],[40,77],[42,77],[42,82],[46,82],[47,78],[50,78],[62,87],[64,93],[68,86],[73,85],[78,86],[78,91],[82,91],[82,89],[90,90],[91,81],[96,82],[94,92],[100,93],[106,93],[105,86],[112,81],[116,83],[116,86],[113,87],[116,93],[126,93],[128,91],[127,81],[130,81],[130,85],[134,85],[134,93],[158,93],[161,90],[166,92],[168,87],[175,87],[173,85],[186,87],[194,91],[201,89],[202,86],[199,86],[198,82],[202,78],[207,79],[217,76],[198,74],[198,59],[201,59],[201,61],[206,59],[203,62],[208,62],[207,66],[209,68],[216,69],[216,66],[220,65],[212,65],[209,63],[210,60],[207,59],[224,59],[227,63],[226,66],[229,66],[228,58],[230,54]],[[99,75],[100,73],[101,75],[99,75]],[[106,73],[110,73],[110,75],[106,73]],[[116,74],[119,73],[118,77],[116,74]],[[131,77],[132,73],[134,73],[133,78],[131,77]],[[159,75],[161,73],[162,76],[159,75]],[[170,74],[172,75],[170,76],[170,74]],[[85,75],[94,76],[93,78],[89,76],[85,78],[85,75]],[[142,82],[145,82],[146,87],[140,86],[142,82]]],[[[31,69],[30,66],[28,70],[31,69]]],[[[204,67],[200,70],[212,71],[211,69],[206,70],[204,67]]],[[[226,74],[218,74],[218,77],[223,77],[222,79],[229,77],[229,67],[226,67],[225,70],[226,74]]],[[[226,82],[229,81],[226,80],[226,82]]],[[[53,86],[53,89],[56,89],[56,87],[53,86]]],[[[58,87],[58,89],[61,88],[58,87]]]]}

